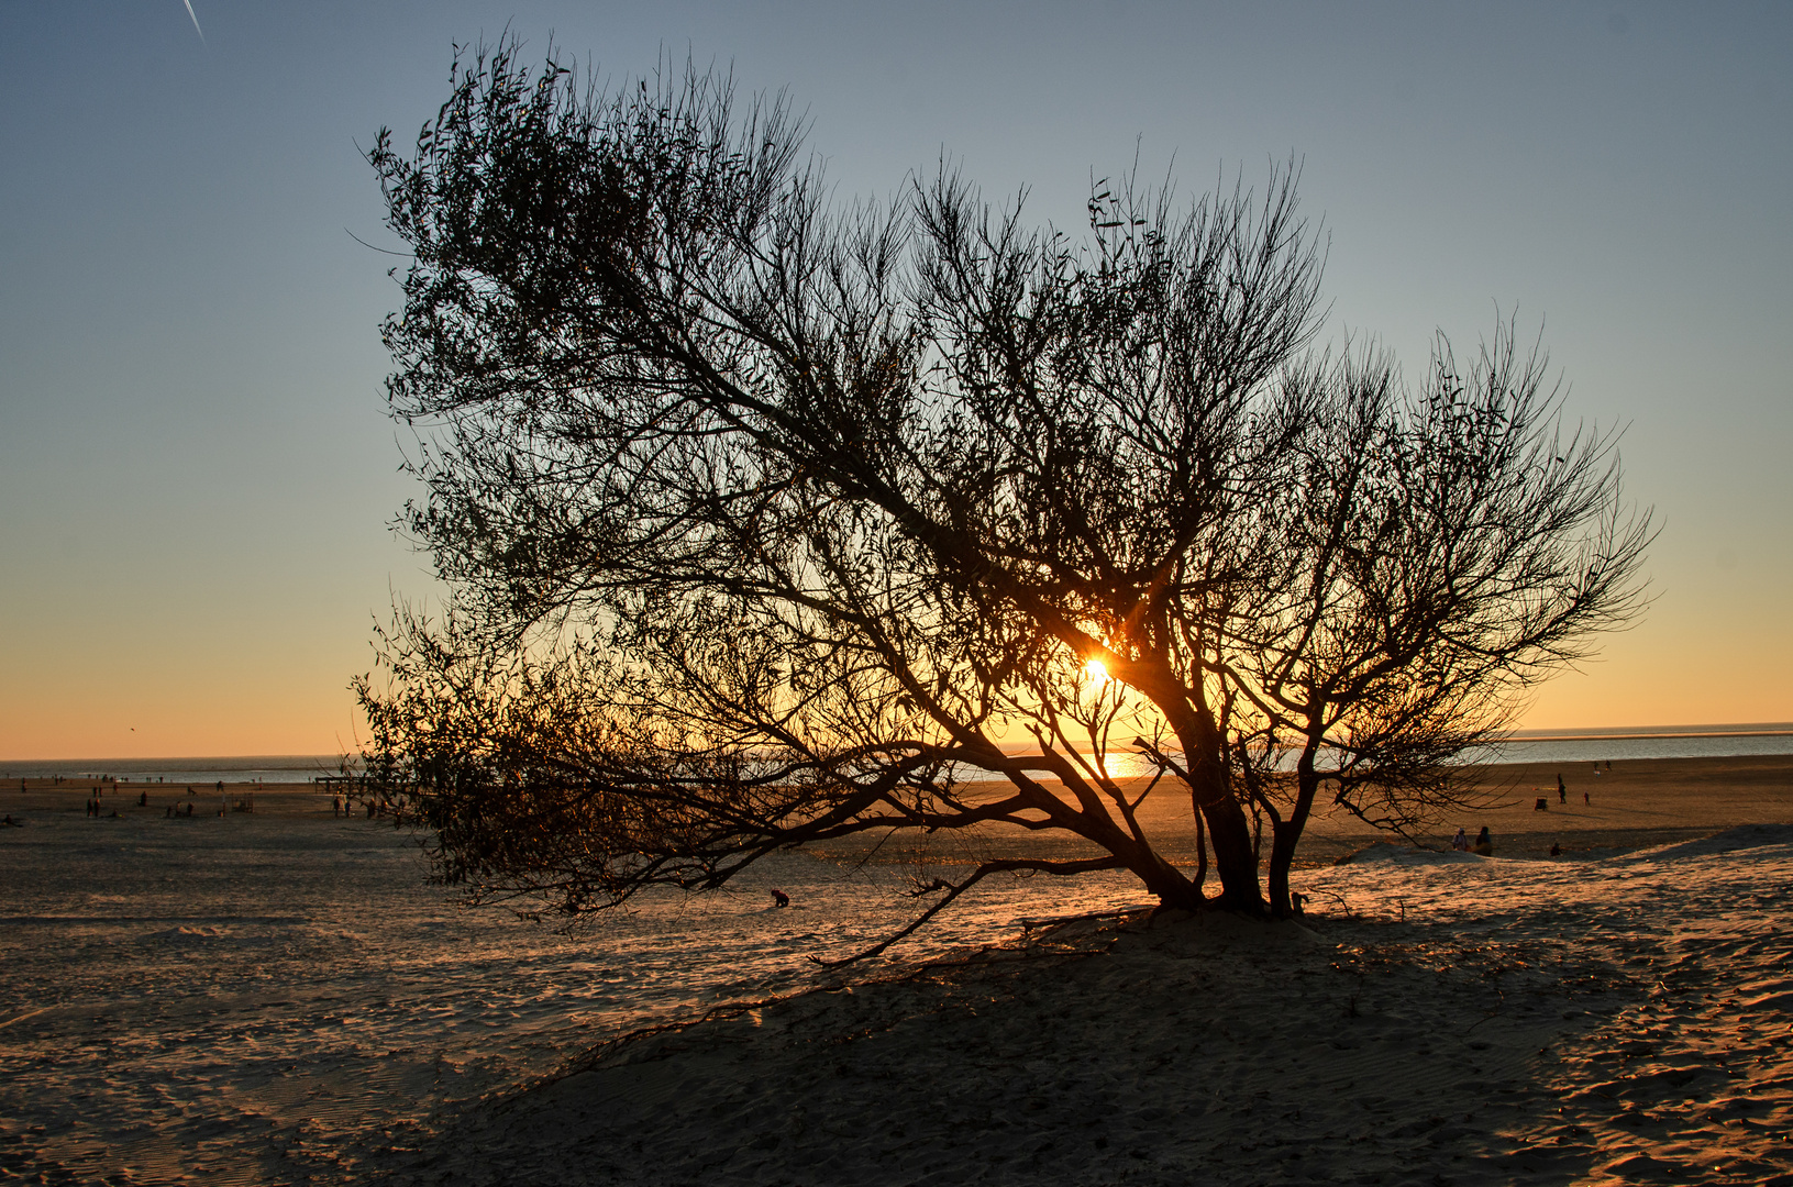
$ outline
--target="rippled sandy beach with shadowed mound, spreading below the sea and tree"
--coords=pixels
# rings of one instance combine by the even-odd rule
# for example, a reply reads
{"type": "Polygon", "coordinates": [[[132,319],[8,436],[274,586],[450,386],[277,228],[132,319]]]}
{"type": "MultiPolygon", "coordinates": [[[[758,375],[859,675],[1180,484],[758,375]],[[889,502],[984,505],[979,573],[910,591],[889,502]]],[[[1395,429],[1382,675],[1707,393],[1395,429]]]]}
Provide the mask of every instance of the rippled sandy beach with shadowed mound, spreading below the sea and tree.
{"type": "Polygon", "coordinates": [[[1793,1183],[1793,757],[1555,775],[1485,773],[1494,859],[1320,821],[1302,922],[1017,882],[839,974],[803,957],[900,918],[900,862],[563,938],[308,789],[7,789],[0,1173],[1793,1183]]]}

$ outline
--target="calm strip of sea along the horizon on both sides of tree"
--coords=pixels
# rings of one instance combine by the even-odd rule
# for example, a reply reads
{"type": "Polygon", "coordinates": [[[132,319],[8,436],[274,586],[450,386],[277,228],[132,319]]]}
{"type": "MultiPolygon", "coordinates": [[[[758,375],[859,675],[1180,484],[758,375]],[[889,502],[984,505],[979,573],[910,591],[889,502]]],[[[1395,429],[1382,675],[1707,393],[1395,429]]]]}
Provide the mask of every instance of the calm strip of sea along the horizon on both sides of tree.
{"type": "MultiPolygon", "coordinates": [[[[1624,762],[1630,758],[1730,758],[1793,755],[1793,721],[1716,726],[1639,726],[1612,730],[1526,730],[1486,755],[1465,762],[1624,762]]],[[[342,755],[247,755],[228,758],[56,758],[0,762],[5,778],[97,776],[163,784],[308,784],[339,775],[342,755]]],[[[353,766],[353,762],[351,762],[353,766]]],[[[1131,775],[1121,769],[1117,775],[1131,775]]]]}

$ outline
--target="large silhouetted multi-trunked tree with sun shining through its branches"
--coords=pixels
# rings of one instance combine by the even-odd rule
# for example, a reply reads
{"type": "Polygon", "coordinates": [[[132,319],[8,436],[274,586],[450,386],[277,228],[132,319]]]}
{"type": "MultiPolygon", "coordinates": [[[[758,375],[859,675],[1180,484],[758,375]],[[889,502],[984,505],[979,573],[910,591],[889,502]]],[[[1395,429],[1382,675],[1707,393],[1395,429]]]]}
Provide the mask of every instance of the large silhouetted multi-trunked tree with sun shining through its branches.
{"type": "Polygon", "coordinates": [[[1445,760],[1637,610],[1648,516],[1510,326],[1418,391],[1304,355],[1289,170],[1097,186],[1074,242],[950,170],[834,208],[800,143],[714,74],[604,93],[500,43],[369,154],[414,251],[405,524],[455,601],[359,692],[475,897],[577,913],[1002,823],[1101,855],[997,855],[927,914],[1113,868],[1262,911],[1268,821],[1284,913],[1321,789],[1391,828],[1458,803],[1445,760]],[[1148,794],[1189,796],[1194,877],[1148,794]]]}

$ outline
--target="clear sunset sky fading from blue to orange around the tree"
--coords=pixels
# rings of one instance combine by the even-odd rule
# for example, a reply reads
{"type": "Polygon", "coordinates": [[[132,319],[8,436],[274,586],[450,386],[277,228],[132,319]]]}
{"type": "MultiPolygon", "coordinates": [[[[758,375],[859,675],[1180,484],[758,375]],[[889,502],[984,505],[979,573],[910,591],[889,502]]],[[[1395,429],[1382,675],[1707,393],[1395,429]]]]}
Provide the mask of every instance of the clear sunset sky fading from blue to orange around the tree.
{"type": "Polygon", "coordinates": [[[506,25],[789,88],[843,197],[941,154],[1078,230],[1092,172],[1302,163],[1330,341],[1542,326],[1626,425],[1657,601],[1524,726],[1793,719],[1793,5],[0,2],[0,760],[353,749],[412,495],[360,149],[506,25]]]}

